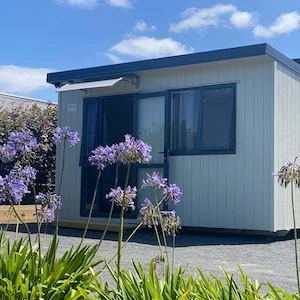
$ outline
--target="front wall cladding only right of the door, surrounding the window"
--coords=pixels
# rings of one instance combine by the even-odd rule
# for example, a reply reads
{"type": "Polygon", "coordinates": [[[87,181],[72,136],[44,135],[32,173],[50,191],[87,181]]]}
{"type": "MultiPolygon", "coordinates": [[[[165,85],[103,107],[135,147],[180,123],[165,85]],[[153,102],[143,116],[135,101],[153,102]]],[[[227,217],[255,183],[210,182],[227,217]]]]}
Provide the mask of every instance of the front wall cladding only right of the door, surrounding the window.
{"type": "Polygon", "coordinates": [[[183,192],[183,225],[273,231],[274,62],[232,61],[184,74],[187,86],[236,82],[237,123],[236,154],[170,157],[170,180],[183,192]]]}

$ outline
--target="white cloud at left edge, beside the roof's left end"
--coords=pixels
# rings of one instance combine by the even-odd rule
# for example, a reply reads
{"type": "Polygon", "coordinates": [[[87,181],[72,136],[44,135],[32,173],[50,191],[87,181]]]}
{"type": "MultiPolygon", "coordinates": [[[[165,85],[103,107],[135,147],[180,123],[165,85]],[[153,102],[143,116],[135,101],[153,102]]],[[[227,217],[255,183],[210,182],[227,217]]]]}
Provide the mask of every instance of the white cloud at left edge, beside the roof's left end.
{"type": "Polygon", "coordinates": [[[51,87],[46,75],[51,69],[25,68],[14,65],[0,66],[0,91],[6,93],[30,94],[51,87]]]}

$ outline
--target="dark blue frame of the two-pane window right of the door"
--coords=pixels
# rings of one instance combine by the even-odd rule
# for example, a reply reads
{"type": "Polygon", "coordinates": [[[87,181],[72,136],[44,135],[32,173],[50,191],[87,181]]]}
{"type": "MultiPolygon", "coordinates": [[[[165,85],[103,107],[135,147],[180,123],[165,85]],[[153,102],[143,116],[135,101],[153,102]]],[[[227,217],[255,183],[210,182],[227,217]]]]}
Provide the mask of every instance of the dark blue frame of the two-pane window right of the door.
{"type": "MultiPolygon", "coordinates": [[[[188,88],[179,88],[179,89],[171,89],[168,91],[168,113],[167,120],[168,124],[168,148],[170,149],[170,156],[178,156],[178,155],[208,155],[208,154],[236,154],[236,83],[226,83],[226,84],[214,84],[214,85],[205,85],[205,86],[195,86],[188,88]],[[200,129],[200,145],[203,145],[203,100],[204,100],[204,92],[206,90],[212,89],[220,89],[220,88],[232,88],[233,91],[233,103],[232,103],[232,126],[231,126],[231,134],[230,134],[230,143],[228,148],[210,148],[210,149],[194,149],[188,151],[172,151],[171,149],[171,127],[172,127],[172,112],[171,112],[171,104],[172,104],[172,94],[176,92],[184,92],[184,91],[195,91],[200,90],[200,112],[199,117],[201,123],[200,129]]],[[[201,147],[200,146],[200,147],[201,147]]]]}

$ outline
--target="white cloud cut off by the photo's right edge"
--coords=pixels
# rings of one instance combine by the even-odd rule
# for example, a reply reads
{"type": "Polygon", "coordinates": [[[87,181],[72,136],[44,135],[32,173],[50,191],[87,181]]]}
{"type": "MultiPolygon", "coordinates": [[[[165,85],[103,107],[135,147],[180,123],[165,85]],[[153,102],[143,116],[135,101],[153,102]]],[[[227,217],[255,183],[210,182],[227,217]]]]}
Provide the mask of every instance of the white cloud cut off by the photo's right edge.
{"type": "Polygon", "coordinates": [[[300,28],[300,13],[294,11],[280,15],[269,27],[257,25],[253,29],[256,37],[271,38],[290,33],[300,28]]]}

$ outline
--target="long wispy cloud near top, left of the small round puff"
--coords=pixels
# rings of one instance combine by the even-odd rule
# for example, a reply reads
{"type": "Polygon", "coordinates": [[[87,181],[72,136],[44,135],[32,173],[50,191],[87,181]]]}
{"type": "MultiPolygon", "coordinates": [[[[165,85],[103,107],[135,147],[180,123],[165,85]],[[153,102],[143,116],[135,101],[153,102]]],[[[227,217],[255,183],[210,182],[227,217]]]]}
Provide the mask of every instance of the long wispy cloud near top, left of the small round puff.
{"type": "Polygon", "coordinates": [[[191,7],[181,14],[182,21],[171,24],[170,30],[178,33],[201,27],[217,27],[222,22],[222,16],[236,11],[233,4],[217,4],[209,8],[191,7]]]}

